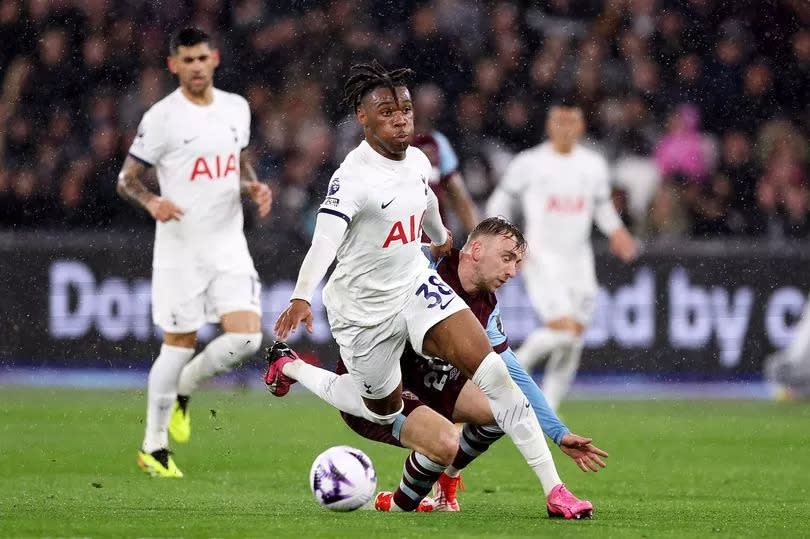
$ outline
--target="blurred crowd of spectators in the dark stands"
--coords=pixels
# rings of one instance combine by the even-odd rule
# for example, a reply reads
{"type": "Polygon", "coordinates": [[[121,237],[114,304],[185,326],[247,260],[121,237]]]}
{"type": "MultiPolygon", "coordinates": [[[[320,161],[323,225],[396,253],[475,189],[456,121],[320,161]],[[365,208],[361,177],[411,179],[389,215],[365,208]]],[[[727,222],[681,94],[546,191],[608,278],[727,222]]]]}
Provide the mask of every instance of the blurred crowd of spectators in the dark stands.
{"type": "Polygon", "coordinates": [[[266,221],[306,236],[357,143],[351,64],[409,66],[483,204],[515,152],[574,99],[614,201],[645,237],[810,234],[810,4],[804,0],[0,0],[0,226],[134,229],[115,195],[143,112],[175,88],[167,30],[222,53],[253,112],[266,221]]]}

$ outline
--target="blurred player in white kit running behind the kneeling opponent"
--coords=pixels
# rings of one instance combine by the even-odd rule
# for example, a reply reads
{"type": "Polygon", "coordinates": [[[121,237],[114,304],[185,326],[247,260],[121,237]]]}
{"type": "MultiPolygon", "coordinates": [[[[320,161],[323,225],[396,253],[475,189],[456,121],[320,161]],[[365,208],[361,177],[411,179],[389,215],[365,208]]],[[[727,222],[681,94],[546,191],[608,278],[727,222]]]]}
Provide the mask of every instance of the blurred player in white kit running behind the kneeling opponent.
{"type": "Polygon", "coordinates": [[[582,334],[597,292],[591,229],[594,221],[625,262],[637,246],[613,207],[605,159],[579,144],[582,109],[555,105],[549,140],[519,153],[490,197],[487,215],[523,214],[528,254],[523,281],[544,327],[515,353],[527,371],[549,355],[542,390],[556,410],[571,387],[582,355],[582,334]]]}

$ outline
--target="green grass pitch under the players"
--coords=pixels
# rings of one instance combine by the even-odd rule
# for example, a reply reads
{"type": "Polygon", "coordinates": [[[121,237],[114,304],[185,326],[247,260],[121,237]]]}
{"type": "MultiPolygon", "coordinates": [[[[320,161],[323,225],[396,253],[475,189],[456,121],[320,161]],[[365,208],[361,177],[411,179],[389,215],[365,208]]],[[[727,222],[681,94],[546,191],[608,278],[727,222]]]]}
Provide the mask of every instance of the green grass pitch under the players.
{"type": "Polygon", "coordinates": [[[143,392],[0,388],[0,536],[90,537],[808,537],[810,405],[571,401],[575,432],[611,454],[584,474],[552,448],[595,518],[546,517],[539,484],[504,439],[464,475],[462,512],[331,513],[310,464],[351,444],[396,486],[404,450],[360,439],[309,395],[200,391],[186,477],[151,479],[135,454],[143,392]]]}

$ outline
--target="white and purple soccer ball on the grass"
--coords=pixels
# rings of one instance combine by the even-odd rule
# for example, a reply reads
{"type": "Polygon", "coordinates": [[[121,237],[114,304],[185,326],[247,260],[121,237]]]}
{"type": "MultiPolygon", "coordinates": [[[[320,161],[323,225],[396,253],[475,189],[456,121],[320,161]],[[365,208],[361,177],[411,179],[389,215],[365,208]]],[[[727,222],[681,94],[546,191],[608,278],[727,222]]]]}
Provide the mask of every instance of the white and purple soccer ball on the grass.
{"type": "Polygon", "coordinates": [[[368,455],[349,447],[330,447],[309,470],[315,500],[332,511],[354,511],[368,503],[377,488],[377,472],[368,455]]]}

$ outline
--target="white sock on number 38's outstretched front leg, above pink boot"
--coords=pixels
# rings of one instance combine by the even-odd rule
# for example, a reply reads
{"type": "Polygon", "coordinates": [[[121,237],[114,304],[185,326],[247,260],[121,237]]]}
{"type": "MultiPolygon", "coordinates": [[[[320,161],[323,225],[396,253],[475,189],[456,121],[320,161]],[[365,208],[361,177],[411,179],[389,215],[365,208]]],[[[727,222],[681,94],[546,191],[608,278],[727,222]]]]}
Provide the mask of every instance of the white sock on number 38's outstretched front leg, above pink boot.
{"type": "Polygon", "coordinates": [[[512,381],[503,359],[490,352],[472,377],[489,401],[498,426],[509,435],[526,463],[540,479],[546,496],[562,483],[543,431],[526,397],[512,381]]]}

